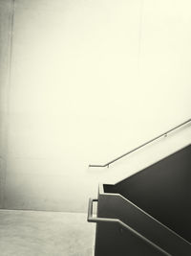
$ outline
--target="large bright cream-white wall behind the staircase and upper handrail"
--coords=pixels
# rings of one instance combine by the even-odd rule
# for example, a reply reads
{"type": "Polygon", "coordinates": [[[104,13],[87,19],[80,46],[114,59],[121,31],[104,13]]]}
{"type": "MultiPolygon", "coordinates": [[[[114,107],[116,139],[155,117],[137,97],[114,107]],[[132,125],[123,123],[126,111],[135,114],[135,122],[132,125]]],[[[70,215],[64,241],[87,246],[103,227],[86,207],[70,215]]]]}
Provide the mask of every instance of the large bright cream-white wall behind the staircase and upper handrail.
{"type": "MultiPolygon", "coordinates": [[[[89,163],[190,117],[190,7],[187,0],[15,1],[6,208],[86,211],[99,181],[131,173],[89,163]]],[[[174,140],[164,145],[161,154],[170,153],[174,140]]],[[[150,158],[144,154],[142,166],[150,158]]]]}

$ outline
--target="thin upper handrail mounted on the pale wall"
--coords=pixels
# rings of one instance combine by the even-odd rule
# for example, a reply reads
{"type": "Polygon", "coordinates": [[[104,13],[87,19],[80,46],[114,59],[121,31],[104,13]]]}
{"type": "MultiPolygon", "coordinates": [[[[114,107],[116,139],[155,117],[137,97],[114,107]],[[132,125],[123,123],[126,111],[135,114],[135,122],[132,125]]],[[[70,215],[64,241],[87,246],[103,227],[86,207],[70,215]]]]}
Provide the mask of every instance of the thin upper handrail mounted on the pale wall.
{"type": "Polygon", "coordinates": [[[116,161],[119,160],[120,158],[122,158],[122,157],[124,157],[124,156],[126,156],[126,155],[128,155],[128,154],[130,154],[130,153],[132,153],[132,152],[134,152],[134,151],[138,151],[139,149],[141,149],[141,148],[143,148],[144,146],[146,146],[146,145],[148,145],[148,144],[154,142],[155,140],[158,140],[158,139],[161,138],[161,137],[167,137],[168,133],[174,131],[174,130],[177,129],[177,128],[183,127],[183,126],[187,125],[187,124],[190,123],[190,122],[191,122],[191,118],[188,119],[187,121],[181,123],[179,126],[177,126],[177,127],[175,127],[175,128],[171,128],[171,129],[167,130],[166,132],[163,132],[163,133],[160,134],[159,136],[157,136],[157,137],[155,137],[155,138],[153,138],[153,139],[151,139],[151,140],[149,140],[149,141],[143,143],[142,145],[138,146],[137,148],[135,148],[135,149],[133,149],[133,150],[131,150],[131,151],[128,151],[128,152],[126,152],[126,153],[123,153],[122,155],[118,156],[117,158],[113,159],[112,161],[110,161],[110,162],[108,162],[108,163],[106,163],[106,164],[104,164],[104,165],[90,164],[89,167],[109,167],[111,164],[113,164],[114,162],[116,162],[116,161]]]}

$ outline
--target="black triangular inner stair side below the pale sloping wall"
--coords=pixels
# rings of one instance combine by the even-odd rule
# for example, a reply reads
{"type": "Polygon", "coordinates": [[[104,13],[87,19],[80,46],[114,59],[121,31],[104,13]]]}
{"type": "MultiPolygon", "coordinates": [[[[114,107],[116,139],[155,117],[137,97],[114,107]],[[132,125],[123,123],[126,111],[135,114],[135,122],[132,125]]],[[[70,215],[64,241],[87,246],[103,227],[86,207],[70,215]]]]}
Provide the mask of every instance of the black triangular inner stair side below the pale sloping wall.
{"type": "Polygon", "coordinates": [[[105,189],[128,198],[191,242],[191,146],[105,189]]]}

